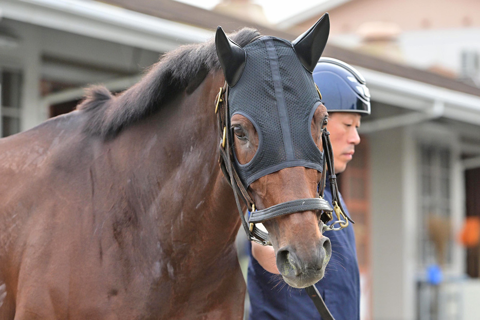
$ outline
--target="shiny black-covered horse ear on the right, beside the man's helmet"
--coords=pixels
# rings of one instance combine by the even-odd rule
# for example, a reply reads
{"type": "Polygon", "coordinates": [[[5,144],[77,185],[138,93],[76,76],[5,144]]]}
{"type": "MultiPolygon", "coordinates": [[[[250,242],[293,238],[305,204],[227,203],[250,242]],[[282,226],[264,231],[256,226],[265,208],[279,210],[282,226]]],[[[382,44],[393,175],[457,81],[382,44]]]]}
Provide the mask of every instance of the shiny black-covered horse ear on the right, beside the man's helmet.
{"type": "Polygon", "coordinates": [[[303,66],[313,72],[322,56],[330,33],[330,18],[325,13],[315,25],[292,42],[293,49],[303,66]]]}

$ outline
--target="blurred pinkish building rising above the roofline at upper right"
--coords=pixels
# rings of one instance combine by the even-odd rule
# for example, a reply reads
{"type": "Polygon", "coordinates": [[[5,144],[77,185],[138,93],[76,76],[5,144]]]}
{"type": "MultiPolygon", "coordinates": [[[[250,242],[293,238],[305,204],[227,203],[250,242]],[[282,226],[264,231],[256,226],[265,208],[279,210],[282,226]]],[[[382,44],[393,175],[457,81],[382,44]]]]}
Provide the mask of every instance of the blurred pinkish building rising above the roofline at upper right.
{"type": "Polygon", "coordinates": [[[331,43],[479,86],[479,11],[475,0],[326,0],[277,27],[298,32],[329,12],[331,43]]]}

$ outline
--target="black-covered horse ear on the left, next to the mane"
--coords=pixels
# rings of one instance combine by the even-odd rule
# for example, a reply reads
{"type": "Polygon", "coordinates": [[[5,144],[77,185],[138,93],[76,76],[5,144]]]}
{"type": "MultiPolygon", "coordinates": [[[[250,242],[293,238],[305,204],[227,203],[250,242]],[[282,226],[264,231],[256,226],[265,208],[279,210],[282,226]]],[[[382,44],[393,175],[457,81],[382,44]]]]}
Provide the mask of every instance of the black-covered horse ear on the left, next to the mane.
{"type": "Polygon", "coordinates": [[[228,39],[221,27],[218,27],[215,33],[215,47],[225,80],[230,87],[233,87],[242,76],[247,61],[247,52],[228,39]]]}

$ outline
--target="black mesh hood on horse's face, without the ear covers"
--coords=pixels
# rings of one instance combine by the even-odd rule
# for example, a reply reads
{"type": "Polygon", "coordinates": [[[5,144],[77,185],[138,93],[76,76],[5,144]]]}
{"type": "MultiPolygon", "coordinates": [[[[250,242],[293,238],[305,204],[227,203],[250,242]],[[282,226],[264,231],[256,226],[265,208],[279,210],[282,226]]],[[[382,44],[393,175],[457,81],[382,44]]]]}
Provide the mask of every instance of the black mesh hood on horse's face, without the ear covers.
{"type": "Polygon", "coordinates": [[[290,42],[263,36],[244,47],[245,69],[229,88],[230,118],[247,117],[259,133],[259,148],[247,164],[235,166],[246,187],[286,167],[322,171],[322,153],[313,141],[310,123],[320,104],[311,73],[290,42]]]}

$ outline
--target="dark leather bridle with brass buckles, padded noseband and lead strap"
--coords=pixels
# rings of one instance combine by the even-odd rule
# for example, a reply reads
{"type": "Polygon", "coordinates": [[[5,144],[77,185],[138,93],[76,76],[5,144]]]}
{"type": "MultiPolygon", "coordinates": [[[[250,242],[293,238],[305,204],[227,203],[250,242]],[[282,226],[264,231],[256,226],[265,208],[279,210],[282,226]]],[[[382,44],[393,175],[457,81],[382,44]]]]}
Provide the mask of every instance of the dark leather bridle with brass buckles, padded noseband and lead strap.
{"type": "MultiPolygon", "coordinates": [[[[320,100],[322,95],[320,90],[317,87],[320,100]]],[[[322,233],[325,231],[336,231],[341,230],[348,226],[349,221],[355,223],[350,217],[345,213],[345,210],[342,207],[340,201],[340,195],[338,192],[337,186],[337,176],[335,175],[335,166],[334,166],[334,153],[330,143],[330,133],[326,128],[322,129],[322,145],[323,145],[323,170],[320,183],[318,185],[319,198],[306,198],[306,199],[297,199],[292,201],[287,201],[271,206],[263,210],[255,210],[255,203],[249,196],[246,187],[242,183],[240,177],[238,176],[235,167],[232,163],[232,152],[231,144],[232,140],[230,137],[230,118],[228,111],[228,84],[225,82],[224,86],[220,88],[216,98],[215,98],[215,114],[217,115],[218,121],[218,130],[220,134],[220,157],[218,162],[220,164],[221,171],[225,175],[228,183],[233,189],[233,195],[235,196],[235,202],[237,205],[238,213],[240,214],[240,219],[242,221],[243,228],[247,234],[247,238],[250,241],[260,243],[262,246],[271,246],[270,241],[268,240],[268,233],[256,227],[255,223],[260,223],[274,217],[279,217],[294,212],[302,212],[309,210],[322,210],[320,216],[320,227],[322,233]],[[323,198],[325,191],[325,182],[326,182],[326,171],[327,167],[329,170],[328,179],[330,181],[330,191],[332,196],[332,203],[334,208],[331,208],[328,201],[323,198]],[[245,215],[242,210],[242,205],[240,199],[247,205],[248,210],[250,211],[250,216],[248,221],[245,218],[245,215]],[[337,216],[337,220],[327,225],[327,222],[334,220],[334,213],[337,216]],[[336,227],[336,224],[339,227],[336,227]]],[[[315,285],[311,285],[305,288],[308,296],[312,299],[315,304],[318,312],[322,316],[322,319],[325,320],[335,320],[331,315],[330,311],[325,305],[325,302],[322,299],[322,296],[318,292],[315,285]]]]}

